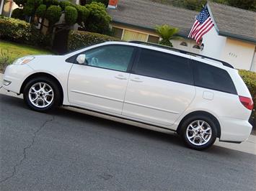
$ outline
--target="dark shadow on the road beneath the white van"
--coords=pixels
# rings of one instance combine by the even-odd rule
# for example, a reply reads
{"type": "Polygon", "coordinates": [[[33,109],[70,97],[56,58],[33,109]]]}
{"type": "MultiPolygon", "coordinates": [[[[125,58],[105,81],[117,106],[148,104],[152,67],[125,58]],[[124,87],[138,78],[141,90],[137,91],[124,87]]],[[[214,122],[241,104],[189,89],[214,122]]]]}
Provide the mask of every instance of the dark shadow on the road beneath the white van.
{"type": "MultiPolygon", "coordinates": [[[[12,109],[20,109],[30,111],[29,108],[25,105],[24,101],[20,98],[15,98],[9,95],[0,95],[0,115],[2,112],[6,110],[12,109]]],[[[33,112],[33,111],[32,111],[33,112]]],[[[39,113],[40,114],[40,113],[39,113]]],[[[201,152],[194,151],[191,149],[187,149],[183,144],[179,136],[170,132],[170,134],[164,134],[158,131],[152,131],[149,129],[142,129],[136,126],[131,126],[127,124],[121,124],[119,122],[110,121],[104,118],[98,118],[95,116],[89,116],[84,113],[77,113],[75,111],[69,111],[64,108],[57,108],[54,111],[50,111],[49,115],[56,116],[56,120],[61,120],[61,118],[65,120],[71,120],[74,122],[81,122],[81,123],[89,123],[89,124],[96,124],[97,128],[106,129],[107,131],[118,131],[119,133],[128,134],[128,136],[138,136],[141,139],[151,139],[152,143],[154,141],[162,142],[163,144],[169,144],[169,146],[174,147],[175,149],[183,149],[185,152],[189,154],[199,154],[201,152]]],[[[29,119],[28,119],[29,120],[29,119]]],[[[75,129],[74,129],[75,130],[75,129]]],[[[247,154],[244,152],[239,152],[232,149],[226,149],[221,146],[212,146],[210,149],[204,151],[210,155],[218,155],[219,157],[238,157],[242,159],[243,154],[247,154]],[[242,154],[242,155],[241,155],[242,154]],[[240,156],[240,157],[239,157],[240,156]]]]}

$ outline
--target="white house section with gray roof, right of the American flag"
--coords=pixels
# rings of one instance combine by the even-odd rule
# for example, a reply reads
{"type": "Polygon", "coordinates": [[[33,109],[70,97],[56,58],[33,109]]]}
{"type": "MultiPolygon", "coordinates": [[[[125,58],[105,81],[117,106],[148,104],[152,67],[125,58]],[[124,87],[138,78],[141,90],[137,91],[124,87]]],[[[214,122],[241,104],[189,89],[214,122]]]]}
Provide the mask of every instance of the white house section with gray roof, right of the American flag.
{"type": "Polygon", "coordinates": [[[200,54],[256,72],[256,12],[208,1],[215,27],[203,36],[200,54]]]}

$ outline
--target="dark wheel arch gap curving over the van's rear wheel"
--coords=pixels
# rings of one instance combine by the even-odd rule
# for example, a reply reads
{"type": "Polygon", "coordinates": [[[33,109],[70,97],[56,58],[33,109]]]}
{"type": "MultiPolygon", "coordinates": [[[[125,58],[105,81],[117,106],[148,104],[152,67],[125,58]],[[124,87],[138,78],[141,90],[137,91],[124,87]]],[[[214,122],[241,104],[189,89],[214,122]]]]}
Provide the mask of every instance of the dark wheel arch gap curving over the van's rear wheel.
{"type": "Polygon", "coordinates": [[[208,113],[207,111],[193,111],[191,113],[187,113],[187,115],[182,118],[182,120],[180,121],[180,124],[177,127],[177,134],[180,134],[180,130],[181,130],[181,127],[182,127],[182,124],[184,123],[184,121],[187,118],[190,118],[191,116],[207,116],[207,117],[211,118],[213,120],[214,124],[216,124],[217,137],[219,137],[219,138],[221,137],[221,124],[219,123],[219,120],[215,116],[213,116],[211,113],[208,113]]]}

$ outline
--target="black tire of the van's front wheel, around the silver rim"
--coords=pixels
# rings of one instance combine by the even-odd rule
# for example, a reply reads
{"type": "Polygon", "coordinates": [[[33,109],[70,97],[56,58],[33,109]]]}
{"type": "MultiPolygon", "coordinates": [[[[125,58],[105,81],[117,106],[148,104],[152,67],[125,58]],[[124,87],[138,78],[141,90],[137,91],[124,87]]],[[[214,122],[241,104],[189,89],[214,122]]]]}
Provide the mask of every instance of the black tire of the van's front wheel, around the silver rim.
{"type": "MultiPolygon", "coordinates": [[[[37,93],[35,93],[35,94],[37,94],[37,93]]],[[[40,95],[38,95],[38,96],[40,96],[40,95]]],[[[47,96],[47,95],[43,95],[43,96],[47,96]]],[[[32,110],[39,111],[39,112],[47,112],[47,111],[52,110],[53,108],[56,108],[57,106],[60,106],[61,92],[58,88],[57,83],[53,79],[47,78],[47,77],[37,77],[37,78],[30,80],[25,85],[25,88],[23,91],[23,98],[24,98],[24,101],[27,104],[27,106],[29,108],[31,108],[32,110]],[[44,102],[44,103],[48,104],[48,106],[40,106],[40,104],[38,104],[38,106],[35,106],[36,103],[33,104],[32,101],[30,101],[30,95],[32,95],[30,93],[30,88],[32,88],[33,85],[36,85],[38,83],[46,84],[47,85],[46,88],[48,88],[48,90],[49,90],[49,87],[50,87],[53,92],[52,93],[53,98],[50,98],[50,95],[47,97],[47,98],[50,98],[50,101],[49,101],[50,104],[44,102]]],[[[46,100],[46,101],[48,101],[48,100],[46,100]]],[[[43,98],[40,99],[40,103],[42,103],[42,105],[44,104],[43,98]]]]}

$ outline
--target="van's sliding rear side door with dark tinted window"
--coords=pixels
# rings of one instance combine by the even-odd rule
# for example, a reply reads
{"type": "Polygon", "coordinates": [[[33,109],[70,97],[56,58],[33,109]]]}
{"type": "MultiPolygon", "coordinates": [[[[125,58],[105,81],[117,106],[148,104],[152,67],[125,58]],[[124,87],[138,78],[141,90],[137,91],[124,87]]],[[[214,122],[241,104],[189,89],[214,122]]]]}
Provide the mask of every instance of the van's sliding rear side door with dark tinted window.
{"type": "Polygon", "coordinates": [[[142,49],[133,67],[123,115],[171,126],[195,97],[193,72],[186,57],[142,49]]]}

